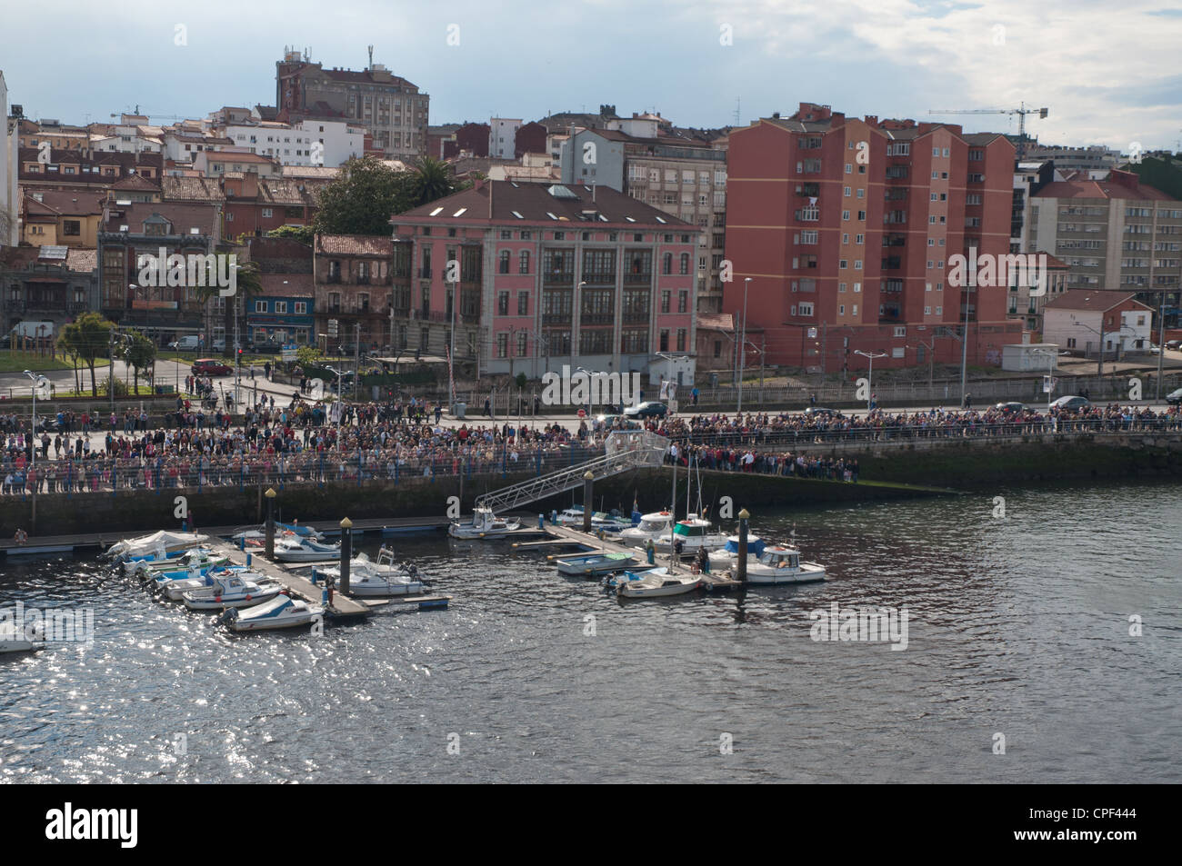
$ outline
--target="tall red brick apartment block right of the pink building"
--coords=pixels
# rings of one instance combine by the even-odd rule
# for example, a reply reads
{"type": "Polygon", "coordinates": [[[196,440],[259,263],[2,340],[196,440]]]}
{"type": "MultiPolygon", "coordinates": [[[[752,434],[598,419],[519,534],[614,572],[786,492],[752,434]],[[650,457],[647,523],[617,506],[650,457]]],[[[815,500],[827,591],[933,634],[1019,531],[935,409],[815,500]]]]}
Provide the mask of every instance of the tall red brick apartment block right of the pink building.
{"type": "MultiPolygon", "coordinates": [[[[1009,249],[1014,145],[960,126],[846,118],[801,103],[730,134],[723,311],[766,333],[766,360],[810,371],[1000,364],[1020,341],[1002,287],[948,285],[949,256],[1009,249]],[[746,282],[749,280],[749,282],[746,282]]],[[[738,320],[736,320],[738,324],[738,320]]],[[[748,359],[748,365],[752,358],[748,359]]],[[[758,363],[758,359],[755,360],[758,363]]]]}

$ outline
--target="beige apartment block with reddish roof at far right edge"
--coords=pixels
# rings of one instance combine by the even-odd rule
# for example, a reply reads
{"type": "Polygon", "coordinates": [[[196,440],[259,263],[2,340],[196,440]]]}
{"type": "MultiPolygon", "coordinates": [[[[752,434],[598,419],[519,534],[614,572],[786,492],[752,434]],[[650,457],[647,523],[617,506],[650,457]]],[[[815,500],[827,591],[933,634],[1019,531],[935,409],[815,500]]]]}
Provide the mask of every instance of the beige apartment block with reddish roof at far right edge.
{"type": "Polygon", "coordinates": [[[1031,247],[1067,265],[1069,289],[1135,292],[1176,327],[1182,289],[1182,201],[1131,171],[1043,187],[1031,200],[1031,247]]]}

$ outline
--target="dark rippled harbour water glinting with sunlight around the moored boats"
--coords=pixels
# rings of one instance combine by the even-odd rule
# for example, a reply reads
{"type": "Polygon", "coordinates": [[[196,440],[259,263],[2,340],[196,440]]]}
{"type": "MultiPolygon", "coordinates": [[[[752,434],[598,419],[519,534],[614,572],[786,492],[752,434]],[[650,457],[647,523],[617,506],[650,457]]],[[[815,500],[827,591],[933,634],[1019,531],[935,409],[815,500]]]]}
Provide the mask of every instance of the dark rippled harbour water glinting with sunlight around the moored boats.
{"type": "Polygon", "coordinates": [[[621,603],[505,542],[401,540],[450,610],[320,638],[230,636],[85,556],[9,562],[0,604],[91,603],[96,636],[0,656],[0,780],[1180,781],[1182,486],[999,494],[1005,519],[756,514],[832,579],[742,597],[621,603]],[[812,640],[834,601],[905,605],[908,647],[812,640]]]}

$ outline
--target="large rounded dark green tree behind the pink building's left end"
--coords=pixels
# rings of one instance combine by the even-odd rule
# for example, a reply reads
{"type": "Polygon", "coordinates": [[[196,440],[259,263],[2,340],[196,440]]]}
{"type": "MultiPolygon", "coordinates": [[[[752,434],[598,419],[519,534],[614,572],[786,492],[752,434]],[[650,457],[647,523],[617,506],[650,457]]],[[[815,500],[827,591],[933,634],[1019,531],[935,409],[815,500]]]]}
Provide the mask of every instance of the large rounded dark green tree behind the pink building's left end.
{"type": "Polygon", "coordinates": [[[320,190],[316,233],[389,236],[390,217],[416,204],[415,177],[374,156],[353,157],[320,190]]]}

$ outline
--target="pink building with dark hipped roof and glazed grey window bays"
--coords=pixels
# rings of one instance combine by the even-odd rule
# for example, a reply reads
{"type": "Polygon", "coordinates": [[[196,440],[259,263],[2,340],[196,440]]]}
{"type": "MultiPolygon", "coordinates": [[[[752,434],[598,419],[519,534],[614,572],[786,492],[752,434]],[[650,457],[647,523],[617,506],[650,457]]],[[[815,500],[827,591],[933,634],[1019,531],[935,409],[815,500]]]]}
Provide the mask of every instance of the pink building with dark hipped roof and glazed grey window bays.
{"type": "Polygon", "coordinates": [[[395,259],[409,262],[394,276],[400,349],[443,356],[454,321],[457,360],[481,375],[691,375],[696,227],[604,187],[513,181],[391,223],[395,259]]]}

